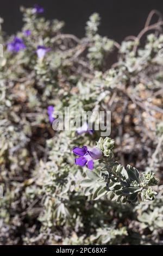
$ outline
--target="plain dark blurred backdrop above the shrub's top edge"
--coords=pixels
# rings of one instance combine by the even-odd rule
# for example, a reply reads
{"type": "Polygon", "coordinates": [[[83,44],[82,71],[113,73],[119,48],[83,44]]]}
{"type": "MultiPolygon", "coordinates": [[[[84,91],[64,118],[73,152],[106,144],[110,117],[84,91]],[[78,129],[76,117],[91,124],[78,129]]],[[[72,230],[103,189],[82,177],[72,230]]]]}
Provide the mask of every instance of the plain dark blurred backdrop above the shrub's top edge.
{"type": "Polygon", "coordinates": [[[119,42],[127,35],[137,35],[152,9],[163,13],[162,0],[1,0],[3,30],[12,34],[21,29],[20,6],[33,7],[35,3],[45,8],[44,15],[48,19],[65,21],[65,33],[79,37],[84,35],[89,16],[96,11],[102,19],[99,32],[119,42]]]}

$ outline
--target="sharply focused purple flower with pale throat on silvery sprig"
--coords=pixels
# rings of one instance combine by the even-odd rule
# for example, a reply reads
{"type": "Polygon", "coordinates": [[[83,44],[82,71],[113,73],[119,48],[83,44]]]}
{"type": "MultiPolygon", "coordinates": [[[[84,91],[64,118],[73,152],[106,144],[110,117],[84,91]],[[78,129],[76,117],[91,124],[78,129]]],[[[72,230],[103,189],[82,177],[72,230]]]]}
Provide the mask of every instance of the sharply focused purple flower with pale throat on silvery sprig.
{"type": "Polygon", "coordinates": [[[102,152],[99,148],[87,149],[86,146],[83,148],[74,147],[72,149],[73,154],[80,156],[75,159],[75,163],[79,166],[85,166],[92,170],[93,169],[93,160],[100,159],[102,152]]]}

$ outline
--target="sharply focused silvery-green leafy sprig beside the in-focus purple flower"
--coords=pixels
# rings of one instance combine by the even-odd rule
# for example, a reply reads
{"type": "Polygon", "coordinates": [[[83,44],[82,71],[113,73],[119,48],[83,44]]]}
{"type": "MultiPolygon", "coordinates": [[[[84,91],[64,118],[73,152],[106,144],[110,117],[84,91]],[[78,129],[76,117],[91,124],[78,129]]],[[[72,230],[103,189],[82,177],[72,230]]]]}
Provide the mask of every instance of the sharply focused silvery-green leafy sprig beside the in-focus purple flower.
{"type": "Polygon", "coordinates": [[[98,147],[103,151],[104,157],[101,160],[101,176],[87,170],[87,178],[82,181],[86,187],[85,195],[92,194],[92,199],[99,199],[106,195],[109,199],[117,200],[122,203],[137,203],[144,200],[153,200],[156,192],[152,187],[158,184],[154,173],[151,171],[143,172],[140,177],[138,170],[129,164],[126,169],[112,160],[112,147],[114,141],[108,137],[102,137],[97,142],[98,147]],[[107,156],[107,157],[105,157],[107,156]]]}

